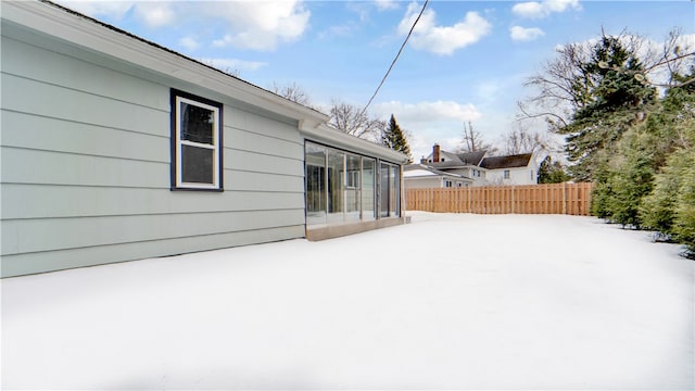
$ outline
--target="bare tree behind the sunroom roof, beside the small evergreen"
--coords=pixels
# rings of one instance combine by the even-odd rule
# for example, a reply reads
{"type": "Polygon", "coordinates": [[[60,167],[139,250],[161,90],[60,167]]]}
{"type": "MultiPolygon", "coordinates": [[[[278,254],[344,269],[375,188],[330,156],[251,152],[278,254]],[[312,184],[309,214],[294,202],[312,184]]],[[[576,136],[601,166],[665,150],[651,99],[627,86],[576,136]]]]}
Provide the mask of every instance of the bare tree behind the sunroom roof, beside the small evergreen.
{"type": "Polygon", "coordinates": [[[359,108],[333,100],[330,108],[329,125],[340,131],[363,139],[378,141],[387,128],[387,122],[371,118],[359,108]]]}

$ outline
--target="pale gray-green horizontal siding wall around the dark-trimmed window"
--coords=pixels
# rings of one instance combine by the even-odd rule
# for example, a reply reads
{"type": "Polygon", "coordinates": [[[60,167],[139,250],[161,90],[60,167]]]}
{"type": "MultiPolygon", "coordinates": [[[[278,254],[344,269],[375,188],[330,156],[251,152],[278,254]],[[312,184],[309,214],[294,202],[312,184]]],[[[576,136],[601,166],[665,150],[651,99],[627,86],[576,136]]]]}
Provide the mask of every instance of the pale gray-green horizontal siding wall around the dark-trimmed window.
{"type": "Polygon", "coordinates": [[[3,277],[304,236],[296,124],[23,34],[3,26],[3,277]],[[224,192],[169,190],[172,87],[225,105],[224,192]]]}

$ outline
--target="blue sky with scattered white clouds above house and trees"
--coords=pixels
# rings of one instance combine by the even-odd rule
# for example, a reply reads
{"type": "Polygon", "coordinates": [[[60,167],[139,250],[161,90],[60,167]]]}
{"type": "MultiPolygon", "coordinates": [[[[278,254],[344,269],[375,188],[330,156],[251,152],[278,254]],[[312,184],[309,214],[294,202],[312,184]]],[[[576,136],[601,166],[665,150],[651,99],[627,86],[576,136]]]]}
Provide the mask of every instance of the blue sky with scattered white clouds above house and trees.
{"type": "MultiPolygon", "coordinates": [[[[424,1],[60,1],[260,87],[296,84],[327,112],[364,106],[424,1]]],[[[490,142],[511,130],[522,85],[557,46],[623,29],[695,45],[695,1],[430,1],[369,113],[392,113],[417,160],[453,150],[464,123],[490,142]]],[[[542,125],[539,129],[542,129],[542,125]]]]}

